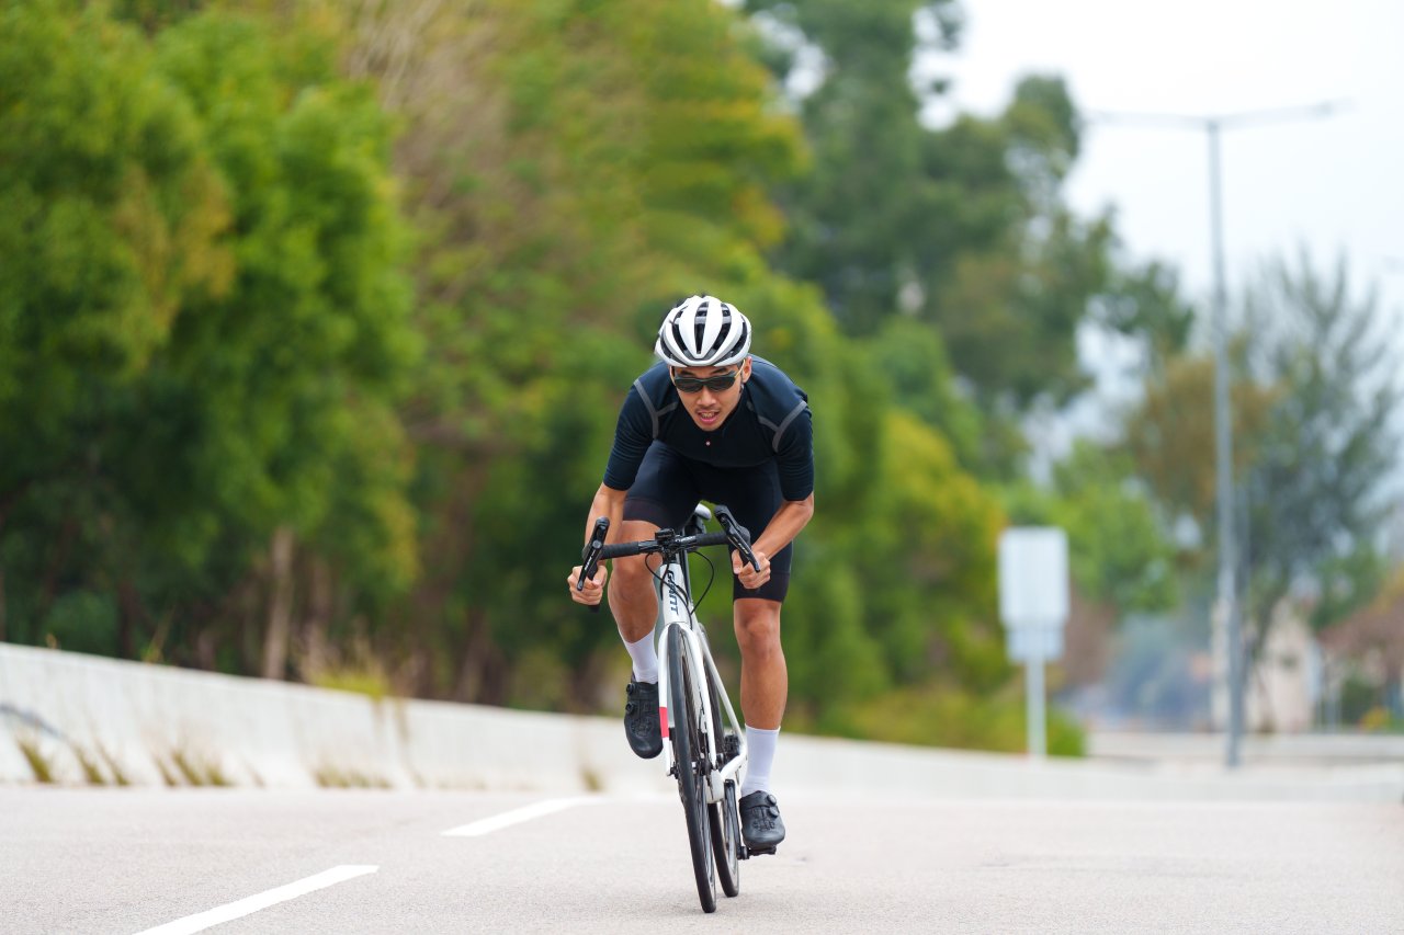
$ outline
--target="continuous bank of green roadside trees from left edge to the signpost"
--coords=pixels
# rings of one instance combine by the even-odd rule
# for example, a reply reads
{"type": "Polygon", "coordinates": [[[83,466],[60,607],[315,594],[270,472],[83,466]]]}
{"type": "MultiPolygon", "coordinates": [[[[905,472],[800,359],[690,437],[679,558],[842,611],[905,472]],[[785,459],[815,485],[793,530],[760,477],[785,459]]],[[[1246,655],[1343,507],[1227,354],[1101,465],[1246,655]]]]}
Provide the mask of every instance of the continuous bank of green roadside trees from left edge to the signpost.
{"type": "Polygon", "coordinates": [[[951,3],[751,8],[823,49],[797,107],[710,0],[0,13],[0,637],[594,710],[618,637],[560,583],[658,316],[706,291],[816,413],[796,723],[894,691],[1004,723],[990,479],[1112,282],[1061,204],[1075,111],[1029,79],[921,125],[951,3]]]}

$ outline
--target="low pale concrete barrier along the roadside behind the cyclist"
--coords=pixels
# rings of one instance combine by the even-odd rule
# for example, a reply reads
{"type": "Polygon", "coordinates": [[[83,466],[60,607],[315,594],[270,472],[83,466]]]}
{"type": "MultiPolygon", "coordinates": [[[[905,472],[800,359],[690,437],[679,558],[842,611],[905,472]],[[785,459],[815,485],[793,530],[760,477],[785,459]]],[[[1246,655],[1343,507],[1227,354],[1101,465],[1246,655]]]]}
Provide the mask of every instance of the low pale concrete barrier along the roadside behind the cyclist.
{"type": "MultiPolygon", "coordinates": [[[[670,792],[614,717],[373,701],[0,644],[0,782],[670,792]]],[[[1404,764],[1102,764],[786,734],[786,795],[1404,800],[1404,764]]]]}

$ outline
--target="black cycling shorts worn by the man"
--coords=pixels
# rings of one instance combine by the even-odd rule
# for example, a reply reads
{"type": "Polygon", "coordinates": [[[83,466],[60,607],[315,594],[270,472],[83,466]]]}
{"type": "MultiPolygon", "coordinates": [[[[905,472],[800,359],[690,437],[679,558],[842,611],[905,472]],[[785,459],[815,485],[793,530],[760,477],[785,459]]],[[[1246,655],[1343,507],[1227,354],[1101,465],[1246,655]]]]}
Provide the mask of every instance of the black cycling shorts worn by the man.
{"type": "MultiPolygon", "coordinates": [[[[747,528],[754,541],[781,508],[781,480],[774,460],[755,468],[716,468],[684,458],[663,442],[643,455],[639,475],[623,501],[625,519],[642,519],[663,529],[681,529],[699,500],[722,504],[747,528]]],[[[789,591],[795,545],[771,556],[771,580],[750,591],[731,577],[731,599],[783,601],[789,591]]]]}

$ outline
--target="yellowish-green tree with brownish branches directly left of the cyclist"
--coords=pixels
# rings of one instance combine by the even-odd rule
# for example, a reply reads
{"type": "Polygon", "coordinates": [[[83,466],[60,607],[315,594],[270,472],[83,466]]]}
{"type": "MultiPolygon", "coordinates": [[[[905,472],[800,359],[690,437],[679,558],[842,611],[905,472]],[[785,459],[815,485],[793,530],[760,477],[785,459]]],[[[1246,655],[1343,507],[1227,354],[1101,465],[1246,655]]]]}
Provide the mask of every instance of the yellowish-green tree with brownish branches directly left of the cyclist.
{"type": "Polygon", "coordinates": [[[386,4],[350,24],[351,67],[404,121],[396,164],[424,232],[428,358],[402,407],[425,518],[425,574],[397,609],[414,691],[508,702],[514,665],[545,649],[580,679],[566,703],[591,703],[614,633],[550,597],[564,531],[668,302],[702,288],[744,307],[769,288],[765,184],[799,159],[737,24],[699,0],[386,4]],[[660,55],[678,35],[708,55],[660,55]]]}

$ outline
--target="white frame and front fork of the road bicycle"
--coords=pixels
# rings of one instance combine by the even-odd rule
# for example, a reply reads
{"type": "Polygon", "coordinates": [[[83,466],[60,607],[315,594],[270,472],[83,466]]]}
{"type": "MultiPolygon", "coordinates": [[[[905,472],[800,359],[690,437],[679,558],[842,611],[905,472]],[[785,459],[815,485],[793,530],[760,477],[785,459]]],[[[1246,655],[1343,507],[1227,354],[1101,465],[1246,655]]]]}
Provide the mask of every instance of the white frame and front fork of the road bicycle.
{"type": "Polygon", "coordinates": [[[702,712],[702,730],[709,737],[708,752],[712,757],[713,767],[722,752],[722,738],[712,737],[716,720],[712,712],[712,694],[706,691],[709,684],[716,687],[716,696],[722,705],[726,723],[736,730],[736,736],[740,740],[740,755],[731,758],[720,769],[713,768],[708,771],[706,800],[708,804],[716,804],[726,796],[727,782],[736,782],[737,789],[741,786],[741,774],[747,764],[746,731],[741,730],[741,723],[731,708],[726,685],[722,682],[722,674],[712,658],[712,649],[706,642],[706,630],[702,628],[701,621],[698,621],[694,608],[688,604],[692,599],[691,584],[685,553],[671,562],[665,562],[654,573],[653,590],[658,595],[658,621],[654,625],[654,640],[657,642],[658,651],[658,722],[664,740],[663,762],[667,774],[673,775],[677,761],[673,755],[673,744],[668,743],[671,729],[674,727],[673,713],[667,708],[671,698],[668,695],[668,630],[677,628],[682,639],[692,649],[692,685],[694,692],[698,695],[698,709],[702,712]]]}

